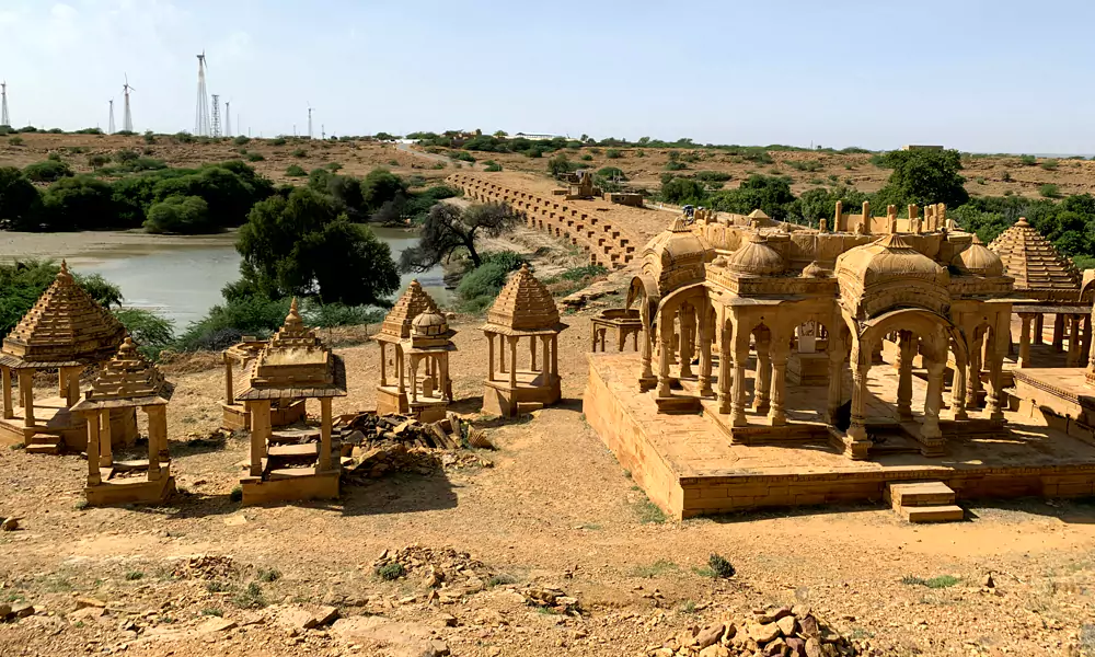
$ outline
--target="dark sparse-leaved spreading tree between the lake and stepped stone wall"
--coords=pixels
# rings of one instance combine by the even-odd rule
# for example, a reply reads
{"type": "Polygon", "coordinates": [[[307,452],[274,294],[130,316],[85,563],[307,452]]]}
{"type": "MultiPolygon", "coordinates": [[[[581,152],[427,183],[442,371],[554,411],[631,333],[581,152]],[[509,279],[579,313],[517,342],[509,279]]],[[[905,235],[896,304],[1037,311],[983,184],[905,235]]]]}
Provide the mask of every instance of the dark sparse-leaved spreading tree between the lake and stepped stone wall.
{"type": "Polygon", "coordinates": [[[400,254],[400,269],[428,272],[460,249],[466,249],[472,265],[479,267],[483,258],[475,249],[475,239],[497,237],[516,221],[517,216],[503,204],[486,203],[461,209],[439,203],[426,216],[418,244],[400,254]]]}

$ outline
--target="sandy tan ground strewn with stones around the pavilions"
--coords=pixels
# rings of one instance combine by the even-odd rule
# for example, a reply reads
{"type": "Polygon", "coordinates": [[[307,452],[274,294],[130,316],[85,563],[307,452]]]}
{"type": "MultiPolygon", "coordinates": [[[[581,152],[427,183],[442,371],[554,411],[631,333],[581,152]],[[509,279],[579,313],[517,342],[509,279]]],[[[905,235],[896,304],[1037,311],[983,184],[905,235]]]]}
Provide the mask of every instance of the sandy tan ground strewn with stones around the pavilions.
{"type": "MultiPolygon", "coordinates": [[[[240,596],[249,584],[264,603],[324,602],[348,618],[424,623],[453,655],[645,655],[683,627],[795,601],[887,655],[1080,655],[1081,634],[1091,642],[1091,500],[976,505],[969,521],[937,527],[907,525],[880,505],[660,521],[585,423],[589,318],[564,321],[565,399],[531,419],[484,422],[499,448],[480,452],[492,468],[348,485],[331,504],[240,508],[229,492],[245,439],[194,441],[219,420],[215,355],[168,368],[177,384],[172,468],[186,491],[168,506],[81,509],[81,457],[0,450],[0,515],[23,518],[21,531],[0,533],[0,602],[39,609],[2,626],[0,654],[399,654],[265,616],[209,631],[216,614],[250,622],[241,604],[256,598],[240,596]],[[420,580],[372,574],[382,550],[411,543],[468,551],[512,584],[430,604],[420,580]],[[699,573],[711,553],[737,575],[699,573]],[[173,560],[194,554],[230,556],[232,566],[212,580],[180,573],[173,560]],[[267,581],[261,568],[280,577],[267,581]],[[993,589],[981,588],[988,573],[993,589]],[[958,580],[902,584],[942,575],[958,580]],[[580,600],[584,615],[526,606],[514,589],[529,583],[556,584],[580,600]],[[81,597],[111,611],[77,620],[81,597]],[[442,613],[457,626],[439,623],[442,613]]],[[[479,408],[486,368],[480,322],[454,325],[450,370],[457,408],[466,413],[479,408]]],[[[332,336],[346,344],[347,332],[332,336]]],[[[336,412],[371,407],[379,349],[339,353],[350,395],[336,412]]]]}

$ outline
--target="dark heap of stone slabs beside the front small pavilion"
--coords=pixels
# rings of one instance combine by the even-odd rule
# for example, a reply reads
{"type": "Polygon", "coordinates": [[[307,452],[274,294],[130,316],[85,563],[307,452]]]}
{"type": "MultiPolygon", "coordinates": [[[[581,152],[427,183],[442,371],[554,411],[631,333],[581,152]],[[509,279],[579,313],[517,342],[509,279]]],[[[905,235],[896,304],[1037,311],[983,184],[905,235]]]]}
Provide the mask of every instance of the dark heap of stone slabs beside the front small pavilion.
{"type": "Polygon", "coordinates": [[[482,429],[454,413],[429,424],[405,415],[359,413],[344,418],[343,427],[343,456],[348,458],[344,466],[350,476],[377,479],[391,472],[429,474],[442,468],[493,465],[462,451],[468,445],[485,448],[491,443],[482,429]]]}

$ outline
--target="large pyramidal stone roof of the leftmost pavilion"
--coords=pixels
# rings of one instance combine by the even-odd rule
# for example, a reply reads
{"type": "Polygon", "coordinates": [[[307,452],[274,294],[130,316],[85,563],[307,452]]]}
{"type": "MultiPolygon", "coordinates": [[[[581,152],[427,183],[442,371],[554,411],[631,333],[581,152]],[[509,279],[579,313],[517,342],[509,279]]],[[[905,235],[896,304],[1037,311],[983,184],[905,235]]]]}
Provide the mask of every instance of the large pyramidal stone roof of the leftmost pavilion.
{"type": "Polygon", "coordinates": [[[110,358],[126,330],[77,285],[61,261],[57,278],[3,341],[13,367],[65,367],[110,358]]]}

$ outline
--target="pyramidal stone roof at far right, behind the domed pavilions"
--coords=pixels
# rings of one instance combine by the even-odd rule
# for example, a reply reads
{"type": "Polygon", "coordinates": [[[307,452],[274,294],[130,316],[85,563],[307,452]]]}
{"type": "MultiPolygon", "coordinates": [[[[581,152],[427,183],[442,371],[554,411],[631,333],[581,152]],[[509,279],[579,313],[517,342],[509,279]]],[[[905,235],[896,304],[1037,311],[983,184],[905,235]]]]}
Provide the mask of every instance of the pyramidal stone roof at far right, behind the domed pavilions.
{"type": "Polygon", "coordinates": [[[1000,255],[1004,272],[1015,279],[1016,290],[1080,293],[1080,272],[1058,253],[1026,217],[1000,233],[989,244],[1000,255]]]}

